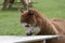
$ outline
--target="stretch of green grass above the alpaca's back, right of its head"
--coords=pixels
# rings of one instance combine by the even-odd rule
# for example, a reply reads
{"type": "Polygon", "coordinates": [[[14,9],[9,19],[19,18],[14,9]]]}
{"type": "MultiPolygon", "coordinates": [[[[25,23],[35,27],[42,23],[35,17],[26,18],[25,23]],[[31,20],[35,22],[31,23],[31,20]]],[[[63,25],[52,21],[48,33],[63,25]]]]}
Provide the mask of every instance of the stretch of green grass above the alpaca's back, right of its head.
{"type": "Polygon", "coordinates": [[[35,0],[34,8],[46,14],[49,18],[65,18],[65,0],[35,0]]]}

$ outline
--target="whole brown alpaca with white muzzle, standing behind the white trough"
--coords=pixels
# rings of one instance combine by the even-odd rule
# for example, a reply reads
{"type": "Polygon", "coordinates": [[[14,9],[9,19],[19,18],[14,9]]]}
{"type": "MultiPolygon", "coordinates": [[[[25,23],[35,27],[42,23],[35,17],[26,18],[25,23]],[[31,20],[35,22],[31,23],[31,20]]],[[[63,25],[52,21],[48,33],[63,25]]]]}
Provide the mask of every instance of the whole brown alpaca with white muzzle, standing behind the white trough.
{"type": "MultiPolygon", "coordinates": [[[[22,12],[21,24],[27,35],[65,35],[65,20],[50,20],[35,9],[22,12]]],[[[42,43],[42,41],[31,43],[42,43]]],[[[47,43],[65,43],[65,37],[47,40],[47,43]]]]}

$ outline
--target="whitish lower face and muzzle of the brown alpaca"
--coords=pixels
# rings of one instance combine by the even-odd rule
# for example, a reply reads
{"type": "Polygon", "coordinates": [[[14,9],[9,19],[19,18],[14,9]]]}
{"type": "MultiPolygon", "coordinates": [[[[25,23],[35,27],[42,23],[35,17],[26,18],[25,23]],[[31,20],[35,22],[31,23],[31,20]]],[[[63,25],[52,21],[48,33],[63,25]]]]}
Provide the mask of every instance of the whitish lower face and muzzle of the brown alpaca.
{"type": "Polygon", "coordinates": [[[23,23],[22,26],[25,29],[26,35],[36,35],[40,32],[40,28],[36,27],[35,24],[23,23]]]}

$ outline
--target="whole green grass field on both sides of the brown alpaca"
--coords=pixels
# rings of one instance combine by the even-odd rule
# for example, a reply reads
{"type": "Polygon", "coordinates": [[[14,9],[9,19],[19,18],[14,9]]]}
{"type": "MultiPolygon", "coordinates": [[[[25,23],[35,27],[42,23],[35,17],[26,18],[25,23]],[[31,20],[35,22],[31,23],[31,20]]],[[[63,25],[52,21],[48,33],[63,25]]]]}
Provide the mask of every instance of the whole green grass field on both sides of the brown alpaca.
{"type": "MultiPolygon", "coordinates": [[[[48,18],[64,18],[65,19],[65,0],[32,0],[37,2],[34,9],[42,12],[48,18]]],[[[0,0],[0,4],[2,0],[0,0]]],[[[16,6],[10,10],[2,11],[0,5],[0,34],[1,35],[25,35],[25,30],[21,26],[21,13],[16,6]]]]}

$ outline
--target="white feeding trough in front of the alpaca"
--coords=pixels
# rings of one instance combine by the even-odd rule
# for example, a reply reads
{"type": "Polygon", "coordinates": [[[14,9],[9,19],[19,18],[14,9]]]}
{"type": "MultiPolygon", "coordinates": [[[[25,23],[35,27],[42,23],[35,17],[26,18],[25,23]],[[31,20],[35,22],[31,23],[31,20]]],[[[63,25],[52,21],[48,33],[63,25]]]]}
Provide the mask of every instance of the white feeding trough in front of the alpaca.
{"type": "Polygon", "coordinates": [[[32,37],[21,37],[21,35],[0,35],[0,43],[20,43],[20,42],[32,42],[43,40],[46,43],[47,39],[58,38],[58,35],[32,35],[32,37]]]}

